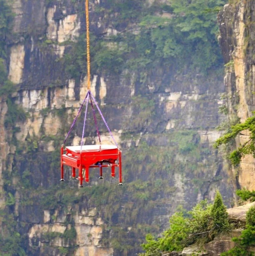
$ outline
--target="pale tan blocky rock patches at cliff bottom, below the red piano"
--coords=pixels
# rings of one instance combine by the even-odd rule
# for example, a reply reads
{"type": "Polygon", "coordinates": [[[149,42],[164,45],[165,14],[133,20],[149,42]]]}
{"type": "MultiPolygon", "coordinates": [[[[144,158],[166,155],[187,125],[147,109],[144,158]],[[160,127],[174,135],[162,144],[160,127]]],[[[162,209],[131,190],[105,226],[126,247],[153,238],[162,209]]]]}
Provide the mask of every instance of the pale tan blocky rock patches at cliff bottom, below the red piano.
{"type": "MultiPolygon", "coordinates": [[[[67,212],[67,215],[70,214],[67,212]]],[[[29,245],[39,248],[41,254],[45,254],[47,247],[52,248],[53,255],[61,255],[58,248],[68,248],[71,245],[66,233],[71,229],[71,224],[66,224],[66,214],[55,210],[51,215],[49,210],[43,211],[43,223],[33,224],[28,231],[29,245]],[[55,249],[54,249],[55,248],[55,249]]],[[[96,208],[77,211],[74,217],[74,229],[76,232],[76,246],[74,255],[113,255],[111,248],[101,245],[103,221],[96,217],[96,208]]]]}

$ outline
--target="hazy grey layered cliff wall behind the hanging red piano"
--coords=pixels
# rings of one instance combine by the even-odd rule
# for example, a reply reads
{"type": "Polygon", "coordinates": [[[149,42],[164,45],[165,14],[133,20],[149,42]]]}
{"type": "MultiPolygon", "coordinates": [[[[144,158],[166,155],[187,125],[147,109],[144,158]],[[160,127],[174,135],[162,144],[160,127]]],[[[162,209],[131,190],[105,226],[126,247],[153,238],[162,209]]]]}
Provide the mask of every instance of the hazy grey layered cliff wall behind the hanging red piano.
{"type": "MultiPolygon", "coordinates": [[[[152,2],[143,1],[144,8],[152,2]]],[[[162,1],[154,4],[158,2],[162,1]]],[[[238,17],[233,21],[233,33],[240,38],[233,38],[233,26],[227,27],[229,19],[222,17],[228,21],[221,25],[221,30],[227,31],[221,41],[228,47],[224,50],[226,62],[228,53],[236,49],[234,67],[239,80],[232,68],[225,81],[230,83],[233,97],[236,91],[239,94],[238,115],[245,118],[251,114],[254,97],[248,93],[251,87],[249,91],[245,87],[249,65],[242,66],[246,63],[243,17],[249,15],[244,4],[238,6],[233,10],[238,17]],[[231,47],[227,35],[233,39],[231,47]]],[[[224,17],[231,14],[231,8],[225,7],[224,17]]],[[[162,231],[178,205],[190,208],[201,199],[211,200],[216,188],[230,205],[235,175],[212,149],[221,134],[215,127],[224,120],[218,113],[225,90],[223,75],[185,77],[174,74],[164,63],[150,74],[145,72],[145,78],[136,71],[107,72],[92,65],[91,91],[123,149],[126,184],[119,188],[108,179],[99,184],[92,174],[91,183],[78,190],[76,182],[68,179],[70,170],[65,170],[67,182],[59,184],[59,148],[86,93],[86,70],[81,61],[85,58],[84,3],[15,0],[13,12],[8,74],[17,90],[11,101],[22,107],[26,119],[8,130],[4,119],[11,114],[11,105],[1,97],[0,205],[4,218],[10,215],[15,221],[13,226],[22,234],[26,253],[135,255],[145,234],[162,231]]],[[[107,40],[126,31],[139,34],[135,20],[118,24],[119,15],[111,12],[107,1],[90,1],[92,47],[97,40],[104,40],[111,48],[114,43],[107,40]]],[[[252,64],[249,72],[251,81],[252,64]]],[[[228,103],[234,112],[233,100],[228,103]]],[[[86,144],[97,142],[90,119],[86,144]]],[[[99,129],[103,142],[108,142],[101,123],[99,129]]],[[[80,137],[81,122],[68,143],[77,145],[80,137]]],[[[246,185],[242,181],[245,175],[242,169],[241,185],[246,185]]],[[[6,222],[2,225],[8,228],[6,222]]]]}

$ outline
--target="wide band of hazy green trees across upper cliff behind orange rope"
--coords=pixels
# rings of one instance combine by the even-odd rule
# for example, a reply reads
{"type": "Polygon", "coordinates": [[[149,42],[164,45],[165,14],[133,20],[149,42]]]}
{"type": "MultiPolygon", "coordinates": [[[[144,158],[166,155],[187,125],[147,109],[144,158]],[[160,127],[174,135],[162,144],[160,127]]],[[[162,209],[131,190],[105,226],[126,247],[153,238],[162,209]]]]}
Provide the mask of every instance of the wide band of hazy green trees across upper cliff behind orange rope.
{"type": "MultiPolygon", "coordinates": [[[[146,82],[153,69],[162,65],[178,73],[196,70],[206,74],[217,69],[223,64],[217,12],[224,4],[224,0],[171,0],[146,8],[145,1],[110,1],[101,11],[107,15],[120,12],[114,27],[126,29],[103,39],[91,34],[92,72],[112,75],[136,71],[140,82],[146,82]],[[138,33],[129,32],[132,27],[128,24],[134,21],[138,33]]],[[[81,36],[63,57],[72,77],[86,70],[84,45],[85,37],[81,36]]]]}

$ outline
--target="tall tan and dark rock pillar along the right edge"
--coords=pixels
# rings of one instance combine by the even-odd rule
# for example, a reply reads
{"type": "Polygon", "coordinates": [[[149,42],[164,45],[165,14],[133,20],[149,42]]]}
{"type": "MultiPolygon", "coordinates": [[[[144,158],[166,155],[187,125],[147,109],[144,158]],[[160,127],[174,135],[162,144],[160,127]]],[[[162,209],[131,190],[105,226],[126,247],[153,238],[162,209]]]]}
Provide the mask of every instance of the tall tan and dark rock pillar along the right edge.
{"type": "MultiPolygon", "coordinates": [[[[255,110],[254,98],[254,3],[239,1],[227,4],[219,14],[220,44],[226,63],[225,87],[229,113],[236,115],[244,122],[255,110]]],[[[249,138],[249,132],[243,131],[237,138],[236,145],[244,143],[249,138]]],[[[252,155],[246,155],[240,163],[238,181],[242,188],[255,189],[255,161],[252,155]]]]}

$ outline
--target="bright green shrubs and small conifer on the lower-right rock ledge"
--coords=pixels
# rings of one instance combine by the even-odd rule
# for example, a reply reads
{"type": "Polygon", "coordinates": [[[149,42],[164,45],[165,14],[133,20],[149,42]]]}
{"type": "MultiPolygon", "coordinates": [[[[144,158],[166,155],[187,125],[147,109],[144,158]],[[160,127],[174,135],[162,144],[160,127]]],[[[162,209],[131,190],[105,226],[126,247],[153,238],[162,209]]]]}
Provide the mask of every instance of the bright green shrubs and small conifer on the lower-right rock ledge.
{"type": "Polygon", "coordinates": [[[148,234],[147,243],[142,245],[146,252],[140,255],[158,256],[162,251],[181,251],[193,243],[209,242],[216,234],[229,229],[227,216],[226,206],[217,191],[213,204],[201,201],[188,213],[176,212],[170,218],[170,228],[162,237],[155,240],[148,234]]]}

